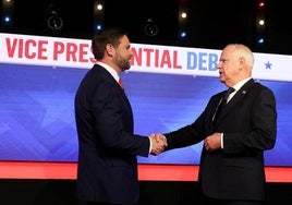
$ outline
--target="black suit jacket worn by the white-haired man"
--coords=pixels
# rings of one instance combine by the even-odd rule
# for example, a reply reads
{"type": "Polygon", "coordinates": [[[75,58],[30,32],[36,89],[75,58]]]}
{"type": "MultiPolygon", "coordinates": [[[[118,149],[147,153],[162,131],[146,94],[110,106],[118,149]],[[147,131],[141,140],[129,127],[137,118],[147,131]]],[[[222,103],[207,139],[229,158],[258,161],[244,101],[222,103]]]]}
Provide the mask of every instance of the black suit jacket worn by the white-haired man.
{"type": "Polygon", "coordinates": [[[208,152],[203,147],[198,181],[204,194],[226,200],[265,200],[264,150],[276,143],[275,96],[250,80],[214,124],[212,117],[224,93],[212,96],[194,123],[166,134],[167,149],[198,143],[214,132],[224,133],[223,149],[208,152]]]}

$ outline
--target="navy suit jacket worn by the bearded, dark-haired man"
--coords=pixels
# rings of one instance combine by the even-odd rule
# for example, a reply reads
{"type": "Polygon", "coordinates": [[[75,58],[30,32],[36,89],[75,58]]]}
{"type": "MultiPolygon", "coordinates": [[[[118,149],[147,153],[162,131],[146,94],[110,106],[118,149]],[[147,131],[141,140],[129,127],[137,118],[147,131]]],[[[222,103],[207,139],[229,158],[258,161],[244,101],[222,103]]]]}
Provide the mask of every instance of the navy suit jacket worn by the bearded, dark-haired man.
{"type": "Polygon", "coordinates": [[[149,138],[133,134],[133,113],[124,91],[95,64],[75,96],[78,133],[77,197],[134,204],[138,200],[136,155],[148,156],[149,138]]]}

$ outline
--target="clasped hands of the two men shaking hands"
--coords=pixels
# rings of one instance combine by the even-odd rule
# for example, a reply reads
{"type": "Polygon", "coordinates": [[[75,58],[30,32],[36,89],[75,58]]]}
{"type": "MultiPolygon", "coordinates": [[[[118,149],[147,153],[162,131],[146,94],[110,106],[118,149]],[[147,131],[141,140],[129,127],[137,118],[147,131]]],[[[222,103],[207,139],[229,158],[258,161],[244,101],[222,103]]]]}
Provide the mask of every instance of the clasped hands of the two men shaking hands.
{"type": "Polygon", "coordinates": [[[149,138],[151,141],[151,155],[159,155],[165,150],[165,148],[168,146],[167,137],[163,134],[160,133],[151,133],[149,135],[149,138]]]}

